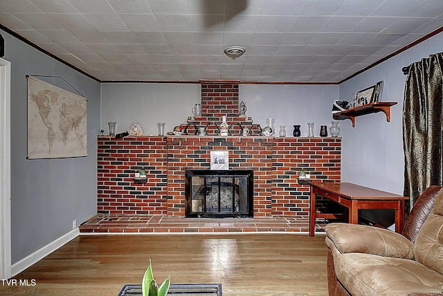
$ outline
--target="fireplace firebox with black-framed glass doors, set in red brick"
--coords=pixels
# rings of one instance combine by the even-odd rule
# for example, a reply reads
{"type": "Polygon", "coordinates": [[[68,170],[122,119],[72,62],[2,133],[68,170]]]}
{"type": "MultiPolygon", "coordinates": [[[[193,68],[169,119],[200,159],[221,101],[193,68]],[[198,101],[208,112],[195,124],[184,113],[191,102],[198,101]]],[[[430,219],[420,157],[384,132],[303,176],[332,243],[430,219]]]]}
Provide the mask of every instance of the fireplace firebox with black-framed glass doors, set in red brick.
{"type": "Polygon", "coordinates": [[[253,217],[253,170],[186,170],[186,217],[253,217]]]}

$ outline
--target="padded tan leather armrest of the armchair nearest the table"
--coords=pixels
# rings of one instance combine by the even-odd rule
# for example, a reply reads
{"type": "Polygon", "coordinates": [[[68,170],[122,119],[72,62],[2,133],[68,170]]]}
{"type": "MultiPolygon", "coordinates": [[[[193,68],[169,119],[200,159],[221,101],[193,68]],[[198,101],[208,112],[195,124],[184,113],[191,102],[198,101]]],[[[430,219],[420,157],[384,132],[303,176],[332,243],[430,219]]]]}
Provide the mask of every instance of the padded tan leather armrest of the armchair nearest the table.
{"type": "Polygon", "coordinates": [[[325,231],[327,243],[334,244],[341,253],[359,252],[414,259],[413,243],[390,230],[367,225],[331,223],[325,226],[325,231]]]}

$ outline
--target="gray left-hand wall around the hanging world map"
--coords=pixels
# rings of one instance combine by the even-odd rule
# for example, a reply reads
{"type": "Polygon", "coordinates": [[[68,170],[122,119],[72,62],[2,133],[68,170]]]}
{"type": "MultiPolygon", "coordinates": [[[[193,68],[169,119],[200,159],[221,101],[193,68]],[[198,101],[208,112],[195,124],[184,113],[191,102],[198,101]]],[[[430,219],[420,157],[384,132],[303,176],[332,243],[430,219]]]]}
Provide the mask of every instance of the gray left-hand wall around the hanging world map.
{"type": "MultiPolygon", "coordinates": [[[[96,214],[100,83],[57,62],[0,30],[11,62],[11,248],[12,263],[72,230],[96,214]],[[61,76],[87,99],[88,156],[27,160],[26,75],[61,76]]],[[[60,79],[39,79],[75,93],[60,79]]]]}

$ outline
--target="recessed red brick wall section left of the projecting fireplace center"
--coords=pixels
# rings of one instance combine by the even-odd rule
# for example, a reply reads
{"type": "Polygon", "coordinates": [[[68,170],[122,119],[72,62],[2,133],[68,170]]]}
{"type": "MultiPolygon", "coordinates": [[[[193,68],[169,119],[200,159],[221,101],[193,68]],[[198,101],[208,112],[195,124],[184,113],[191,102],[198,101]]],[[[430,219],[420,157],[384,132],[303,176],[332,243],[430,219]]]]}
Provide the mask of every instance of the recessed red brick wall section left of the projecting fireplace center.
{"type": "Polygon", "coordinates": [[[98,137],[99,214],[167,214],[166,142],[160,136],[98,137]],[[134,183],[146,170],[148,181],[134,183]]]}

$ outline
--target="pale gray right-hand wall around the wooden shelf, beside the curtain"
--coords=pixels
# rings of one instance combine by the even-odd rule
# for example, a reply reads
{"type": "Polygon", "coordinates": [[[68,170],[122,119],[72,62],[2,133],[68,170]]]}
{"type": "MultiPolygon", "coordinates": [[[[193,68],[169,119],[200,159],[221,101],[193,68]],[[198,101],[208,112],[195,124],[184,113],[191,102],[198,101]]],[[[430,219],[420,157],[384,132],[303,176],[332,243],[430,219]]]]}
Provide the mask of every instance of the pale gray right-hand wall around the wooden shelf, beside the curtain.
{"type": "Polygon", "coordinates": [[[398,102],[391,108],[391,121],[383,113],[340,123],[342,141],[342,180],[403,194],[404,153],[402,109],[406,75],[401,68],[443,48],[443,33],[392,57],[339,86],[339,98],[350,100],[353,93],[383,80],[383,101],[398,102]]]}

